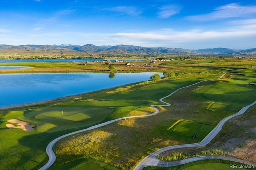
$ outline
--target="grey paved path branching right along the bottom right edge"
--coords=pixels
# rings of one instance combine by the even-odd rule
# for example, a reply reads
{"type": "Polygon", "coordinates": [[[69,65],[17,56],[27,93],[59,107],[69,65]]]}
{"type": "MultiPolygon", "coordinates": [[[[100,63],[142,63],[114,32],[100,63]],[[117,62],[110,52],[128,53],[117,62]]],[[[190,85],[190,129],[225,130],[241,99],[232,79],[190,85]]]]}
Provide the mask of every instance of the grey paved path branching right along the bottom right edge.
{"type": "Polygon", "coordinates": [[[162,161],[162,160],[159,160],[158,158],[154,157],[154,159],[150,161],[150,163],[151,163],[150,166],[170,167],[170,166],[177,166],[177,165],[182,165],[182,164],[186,164],[189,162],[194,162],[194,161],[198,161],[198,160],[206,160],[206,159],[231,160],[234,162],[239,162],[241,164],[253,165],[256,167],[256,163],[254,163],[254,162],[249,162],[246,160],[230,158],[230,157],[225,157],[225,156],[198,156],[198,157],[188,158],[188,159],[178,160],[178,161],[162,161]]]}

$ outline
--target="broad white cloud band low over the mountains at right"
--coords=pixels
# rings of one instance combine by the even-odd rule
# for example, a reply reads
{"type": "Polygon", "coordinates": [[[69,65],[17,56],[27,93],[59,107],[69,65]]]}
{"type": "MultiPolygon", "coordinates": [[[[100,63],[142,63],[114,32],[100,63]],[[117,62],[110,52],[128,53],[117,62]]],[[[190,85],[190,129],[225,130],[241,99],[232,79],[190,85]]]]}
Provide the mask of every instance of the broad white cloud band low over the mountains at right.
{"type": "Polygon", "coordinates": [[[140,46],[164,46],[198,49],[205,47],[229,47],[245,49],[256,46],[256,20],[242,20],[244,24],[223,30],[193,29],[178,31],[172,29],[150,32],[120,32],[100,34],[93,38],[98,45],[131,44],[140,46]],[[102,44],[106,42],[105,44],[102,44]]]}

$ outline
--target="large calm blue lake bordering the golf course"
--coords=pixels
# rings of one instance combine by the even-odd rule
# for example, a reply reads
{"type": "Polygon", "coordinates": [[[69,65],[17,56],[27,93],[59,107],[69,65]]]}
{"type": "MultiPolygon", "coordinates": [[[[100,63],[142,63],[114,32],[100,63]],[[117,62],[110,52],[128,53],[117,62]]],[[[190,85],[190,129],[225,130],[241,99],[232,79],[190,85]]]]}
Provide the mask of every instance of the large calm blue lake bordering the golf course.
{"type": "MultiPolygon", "coordinates": [[[[153,74],[155,73],[0,74],[0,107],[44,101],[146,81],[150,80],[150,76],[153,74]]],[[[158,74],[163,76],[162,73],[158,74]]]]}

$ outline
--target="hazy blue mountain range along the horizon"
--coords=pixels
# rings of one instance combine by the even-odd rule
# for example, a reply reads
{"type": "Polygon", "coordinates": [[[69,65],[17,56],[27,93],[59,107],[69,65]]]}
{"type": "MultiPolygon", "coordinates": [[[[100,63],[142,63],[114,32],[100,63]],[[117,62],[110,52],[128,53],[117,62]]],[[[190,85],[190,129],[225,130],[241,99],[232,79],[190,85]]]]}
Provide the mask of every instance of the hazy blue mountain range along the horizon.
{"type": "Polygon", "coordinates": [[[0,45],[3,49],[30,50],[57,50],[57,51],[80,51],[101,53],[172,53],[172,54],[241,54],[256,55],[256,48],[252,49],[229,49],[229,48],[207,48],[207,49],[182,49],[167,47],[141,47],[134,45],[101,45],[86,44],[83,46],[72,44],[61,45],[0,45]]]}

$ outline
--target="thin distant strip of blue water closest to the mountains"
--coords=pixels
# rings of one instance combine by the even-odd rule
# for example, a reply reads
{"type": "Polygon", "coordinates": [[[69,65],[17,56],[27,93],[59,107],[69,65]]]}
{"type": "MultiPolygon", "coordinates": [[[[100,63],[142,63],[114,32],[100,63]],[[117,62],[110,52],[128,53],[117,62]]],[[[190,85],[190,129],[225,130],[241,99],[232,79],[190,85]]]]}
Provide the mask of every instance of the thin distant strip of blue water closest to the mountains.
{"type": "MultiPolygon", "coordinates": [[[[0,63],[21,63],[21,62],[85,62],[85,61],[102,61],[105,59],[0,59],[0,63]]],[[[124,59],[110,59],[110,61],[124,60],[124,59]]],[[[134,61],[134,59],[125,59],[126,61],[134,61]]],[[[138,61],[146,61],[146,59],[136,59],[138,61]]]]}

